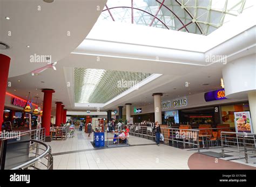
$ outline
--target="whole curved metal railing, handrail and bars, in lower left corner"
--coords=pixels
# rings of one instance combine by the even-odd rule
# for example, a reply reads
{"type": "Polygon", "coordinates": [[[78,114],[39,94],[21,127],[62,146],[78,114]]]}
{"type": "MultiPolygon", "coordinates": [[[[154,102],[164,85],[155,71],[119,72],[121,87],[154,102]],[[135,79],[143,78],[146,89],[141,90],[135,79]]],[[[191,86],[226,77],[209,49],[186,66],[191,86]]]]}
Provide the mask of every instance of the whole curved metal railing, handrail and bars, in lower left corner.
{"type": "Polygon", "coordinates": [[[28,162],[25,162],[23,164],[20,164],[19,166],[16,166],[14,168],[11,168],[12,170],[15,169],[53,169],[53,157],[51,154],[51,147],[47,145],[46,143],[38,140],[25,140],[23,142],[33,142],[30,148],[32,150],[35,150],[34,152],[30,152],[29,154],[35,154],[33,159],[31,159],[28,162]],[[39,147],[44,146],[45,149],[39,147]],[[41,152],[41,153],[39,153],[41,152]],[[45,159],[45,160],[43,160],[45,159]],[[43,161],[42,161],[43,160],[43,161]],[[45,163],[45,161],[47,163],[45,163]]]}

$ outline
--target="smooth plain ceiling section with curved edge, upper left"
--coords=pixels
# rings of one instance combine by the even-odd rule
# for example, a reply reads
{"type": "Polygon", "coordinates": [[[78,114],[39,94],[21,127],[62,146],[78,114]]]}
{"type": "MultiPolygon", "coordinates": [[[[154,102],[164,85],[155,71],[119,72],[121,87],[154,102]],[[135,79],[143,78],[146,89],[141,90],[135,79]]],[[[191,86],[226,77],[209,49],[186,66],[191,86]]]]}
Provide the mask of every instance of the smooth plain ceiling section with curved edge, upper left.
{"type": "Polygon", "coordinates": [[[0,49],[0,53],[11,57],[9,77],[29,73],[70,54],[91,31],[105,3],[1,0],[0,41],[10,48],[0,49]],[[44,56],[49,56],[50,61],[44,56]]]}

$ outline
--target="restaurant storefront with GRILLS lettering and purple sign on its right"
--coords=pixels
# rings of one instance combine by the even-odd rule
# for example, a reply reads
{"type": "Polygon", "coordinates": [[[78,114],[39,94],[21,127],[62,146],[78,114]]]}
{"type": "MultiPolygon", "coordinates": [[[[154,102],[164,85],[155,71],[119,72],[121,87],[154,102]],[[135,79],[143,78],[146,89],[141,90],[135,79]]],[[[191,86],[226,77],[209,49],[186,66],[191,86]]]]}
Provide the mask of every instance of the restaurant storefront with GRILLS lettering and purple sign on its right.
{"type": "Polygon", "coordinates": [[[161,107],[165,124],[178,124],[175,116],[179,124],[210,124],[212,127],[218,124],[234,127],[234,112],[250,111],[248,100],[228,99],[224,89],[167,100],[161,107]]]}

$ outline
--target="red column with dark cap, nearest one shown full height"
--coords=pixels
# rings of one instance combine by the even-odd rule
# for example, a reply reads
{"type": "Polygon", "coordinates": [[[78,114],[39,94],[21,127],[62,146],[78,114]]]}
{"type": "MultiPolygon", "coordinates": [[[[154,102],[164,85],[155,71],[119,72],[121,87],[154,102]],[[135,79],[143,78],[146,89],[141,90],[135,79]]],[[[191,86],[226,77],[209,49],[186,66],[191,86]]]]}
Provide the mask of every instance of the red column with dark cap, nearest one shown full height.
{"type": "Polygon", "coordinates": [[[50,136],[52,93],[55,91],[52,89],[43,89],[42,92],[44,92],[42,127],[45,128],[45,141],[47,141],[48,138],[46,136],[50,136]]]}

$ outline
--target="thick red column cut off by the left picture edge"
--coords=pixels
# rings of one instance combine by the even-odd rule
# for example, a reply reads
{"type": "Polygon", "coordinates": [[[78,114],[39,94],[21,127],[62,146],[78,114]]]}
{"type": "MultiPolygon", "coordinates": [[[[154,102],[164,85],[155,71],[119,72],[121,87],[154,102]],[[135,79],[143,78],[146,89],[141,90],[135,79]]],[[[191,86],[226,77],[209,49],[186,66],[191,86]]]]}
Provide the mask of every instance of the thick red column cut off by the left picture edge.
{"type": "Polygon", "coordinates": [[[4,116],[5,92],[10,67],[10,57],[0,54],[0,131],[2,131],[2,123],[4,116]]]}

